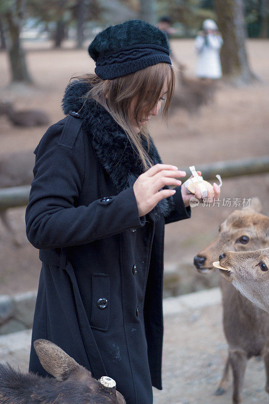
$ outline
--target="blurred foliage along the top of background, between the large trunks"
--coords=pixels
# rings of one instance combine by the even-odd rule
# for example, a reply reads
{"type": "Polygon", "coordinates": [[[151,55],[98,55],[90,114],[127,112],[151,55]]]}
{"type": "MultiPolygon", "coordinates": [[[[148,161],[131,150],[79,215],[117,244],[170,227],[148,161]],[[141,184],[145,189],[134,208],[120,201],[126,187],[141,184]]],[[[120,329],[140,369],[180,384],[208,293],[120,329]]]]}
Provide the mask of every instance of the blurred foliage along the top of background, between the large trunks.
{"type": "MultiPolygon", "coordinates": [[[[53,39],[61,46],[63,39],[77,36],[82,46],[83,35],[94,36],[100,29],[132,18],[143,18],[150,8],[151,23],[169,15],[177,31],[175,37],[194,37],[205,18],[216,19],[214,0],[0,0],[1,44],[4,41],[3,21],[10,9],[21,8],[22,36],[36,31],[39,37],[53,39]],[[77,32],[78,31],[78,32],[77,32]]],[[[243,0],[249,37],[268,37],[269,0],[243,0]]]]}

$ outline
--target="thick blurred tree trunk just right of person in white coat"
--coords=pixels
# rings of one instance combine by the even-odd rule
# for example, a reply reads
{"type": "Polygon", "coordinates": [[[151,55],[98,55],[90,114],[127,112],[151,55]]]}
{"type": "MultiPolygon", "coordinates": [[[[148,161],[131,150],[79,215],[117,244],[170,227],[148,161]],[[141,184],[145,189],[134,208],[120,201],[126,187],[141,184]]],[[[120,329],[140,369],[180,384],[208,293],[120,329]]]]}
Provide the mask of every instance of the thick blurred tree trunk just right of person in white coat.
{"type": "Polygon", "coordinates": [[[250,84],[256,77],[250,70],[246,53],[243,0],[216,0],[215,8],[223,36],[221,62],[224,78],[235,85],[250,84]]]}

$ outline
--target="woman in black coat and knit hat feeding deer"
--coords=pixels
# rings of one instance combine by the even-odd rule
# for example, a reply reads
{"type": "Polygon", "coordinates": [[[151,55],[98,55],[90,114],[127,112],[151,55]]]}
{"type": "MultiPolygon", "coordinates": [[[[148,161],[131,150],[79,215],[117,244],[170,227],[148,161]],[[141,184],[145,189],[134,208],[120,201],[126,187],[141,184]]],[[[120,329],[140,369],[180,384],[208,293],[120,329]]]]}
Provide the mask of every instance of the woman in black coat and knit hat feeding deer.
{"type": "MultiPolygon", "coordinates": [[[[88,50],[96,74],[67,86],[69,116],[34,152],[32,342],[56,343],[95,378],[114,378],[128,404],[150,404],[151,386],[162,388],[164,227],[190,217],[186,173],[162,164],[146,129],[162,104],[167,114],[174,72],[165,34],[142,21],[107,28],[88,50]]],[[[216,184],[208,197],[219,194],[216,184]]],[[[33,345],[29,370],[47,375],[33,345]]]]}

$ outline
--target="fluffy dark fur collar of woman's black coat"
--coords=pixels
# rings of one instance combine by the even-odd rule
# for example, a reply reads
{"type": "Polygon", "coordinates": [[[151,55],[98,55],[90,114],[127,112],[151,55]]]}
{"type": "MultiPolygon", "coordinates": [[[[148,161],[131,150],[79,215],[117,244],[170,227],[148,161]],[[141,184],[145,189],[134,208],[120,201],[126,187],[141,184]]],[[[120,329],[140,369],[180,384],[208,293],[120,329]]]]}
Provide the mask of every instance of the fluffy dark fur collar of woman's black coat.
{"type": "MultiPolygon", "coordinates": [[[[63,111],[66,115],[70,110],[79,111],[83,119],[84,130],[92,138],[92,144],[100,163],[109,174],[117,191],[121,192],[133,186],[137,177],[142,174],[142,163],[126,133],[109,112],[93,99],[88,100],[83,106],[83,97],[88,89],[88,84],[83,82],[77,81],[69,84],[62,102],[63,111]],[[83,108],[80,110],[82,106],[83,108]]],[[[146,141],[144,146],[147,147],[146,141]]],[[[162,163],[151,138],[148,155],[154,164],[162,163]]],[[[160,216],[167,216],[171,207],[171,197],[160,200],[149,212],[150,219],[155,222],[160,216]]]]}

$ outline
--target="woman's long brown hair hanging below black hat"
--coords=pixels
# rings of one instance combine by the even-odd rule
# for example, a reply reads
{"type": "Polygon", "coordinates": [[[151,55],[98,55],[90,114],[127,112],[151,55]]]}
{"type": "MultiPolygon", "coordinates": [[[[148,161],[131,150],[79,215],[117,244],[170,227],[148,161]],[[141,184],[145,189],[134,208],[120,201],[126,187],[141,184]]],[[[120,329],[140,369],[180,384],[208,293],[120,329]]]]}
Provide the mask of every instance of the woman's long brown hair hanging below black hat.
{"type": "Polygon", "coordinates": [[[175,73],[168,63],[157,63],[113,80],[102,80],[93,73],[72,78],[89,84],[90,88],[85,95],[84,103],[87,102],[88,98],[95,99],[124,129],[134,150],[142,161],[144,171],[153,165],[141,141],[142,136],[144,136],[149,149],[148,129],[146,125],[143,125],[140,132],[136,133],[130,123],[128,112],[132,100],[137,97],[137,103],[134,108],[137,124],[147,117],[162,95],[161,92],[166,78],[168,79],[168,90],[161,111],[163,119],[167,122],[168,108],[175,89],[175,73]]]}

